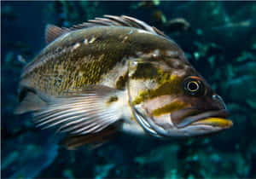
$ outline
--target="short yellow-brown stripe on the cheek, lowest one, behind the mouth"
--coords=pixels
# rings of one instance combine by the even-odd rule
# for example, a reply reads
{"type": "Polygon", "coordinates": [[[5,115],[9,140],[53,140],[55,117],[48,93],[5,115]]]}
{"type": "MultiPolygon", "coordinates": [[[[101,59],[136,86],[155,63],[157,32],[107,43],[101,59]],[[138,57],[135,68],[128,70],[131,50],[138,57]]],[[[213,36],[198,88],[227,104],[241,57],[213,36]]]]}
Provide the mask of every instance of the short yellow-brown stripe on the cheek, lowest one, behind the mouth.
{"type": "Polygon", "coordinates": [[[174,101],[170,104],[167,104],[164,107],[160,107],[157,109],[154,109],[154,111],[152,112],[154,116],[160,116],[166,113],[172,113],[174,111],[183,109],[184,107],[186,107],[186,104],[180,101],[174,101]]]}

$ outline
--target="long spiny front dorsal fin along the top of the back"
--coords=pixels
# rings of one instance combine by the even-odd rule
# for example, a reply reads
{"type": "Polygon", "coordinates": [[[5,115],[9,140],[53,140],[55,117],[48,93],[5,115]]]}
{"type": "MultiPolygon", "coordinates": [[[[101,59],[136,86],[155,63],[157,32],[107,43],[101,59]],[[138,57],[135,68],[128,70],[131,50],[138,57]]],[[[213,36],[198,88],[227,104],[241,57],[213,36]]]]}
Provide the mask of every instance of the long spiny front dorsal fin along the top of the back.
{"type": "Polygon", "coordinates": [[[137,20],[136,18],[121,15],[104,15],[105,18],[95,18],[95,20],[88,20],[88,22],[84,22],[82,24],[72,26],[69,30],[78,30],[87,27],[93,26],[130,26],[138,29],[143,29],[144,31],[151,32],[153,34],[160,35],[164,38],[168,38],[164,32],[161,32],[154,26],[149,26],[147,23],[143,22],[142,20],[137,20]]]}

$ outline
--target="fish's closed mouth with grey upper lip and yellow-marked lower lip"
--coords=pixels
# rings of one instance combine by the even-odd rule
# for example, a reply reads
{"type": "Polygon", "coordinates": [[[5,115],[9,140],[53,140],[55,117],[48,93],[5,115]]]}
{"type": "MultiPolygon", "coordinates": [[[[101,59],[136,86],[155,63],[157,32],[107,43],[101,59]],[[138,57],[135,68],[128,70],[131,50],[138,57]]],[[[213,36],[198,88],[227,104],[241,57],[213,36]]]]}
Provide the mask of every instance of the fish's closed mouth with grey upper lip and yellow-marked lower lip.
{"type": "Polygon", "coordinates": [[[212,127],[228,129],[233,125],[230,119],[226,119],[230,116],[227,109],[207,111],[204,113],[195,111],[195,113],[197,114],[183,118],[182,121],[175,124],[177,128],[184,128],[188,125],[211,125],[212,127]]]}

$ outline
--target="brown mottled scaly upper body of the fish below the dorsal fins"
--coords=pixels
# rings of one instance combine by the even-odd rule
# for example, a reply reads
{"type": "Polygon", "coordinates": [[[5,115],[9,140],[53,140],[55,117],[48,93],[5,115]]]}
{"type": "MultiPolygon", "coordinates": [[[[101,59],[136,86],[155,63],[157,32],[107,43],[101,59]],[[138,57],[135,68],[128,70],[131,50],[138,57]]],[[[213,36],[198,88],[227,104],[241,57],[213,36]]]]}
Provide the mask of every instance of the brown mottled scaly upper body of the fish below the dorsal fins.
{"type": "Polygon", "coordinates": [[[116,84],[120,76],[125,77],[126,71],[117,74],[115,66],[126,66],[123,69],[127,70],[127,60],[148,55],[156,49],[160,54],[171,50],[183,55],[170,40],[133,27],[101,26],[68,32],[50,43],[26,66],[21,88],[61,95],[69,89],[104,84],[106,75],[114,76],[111,81],[116,84]]]}

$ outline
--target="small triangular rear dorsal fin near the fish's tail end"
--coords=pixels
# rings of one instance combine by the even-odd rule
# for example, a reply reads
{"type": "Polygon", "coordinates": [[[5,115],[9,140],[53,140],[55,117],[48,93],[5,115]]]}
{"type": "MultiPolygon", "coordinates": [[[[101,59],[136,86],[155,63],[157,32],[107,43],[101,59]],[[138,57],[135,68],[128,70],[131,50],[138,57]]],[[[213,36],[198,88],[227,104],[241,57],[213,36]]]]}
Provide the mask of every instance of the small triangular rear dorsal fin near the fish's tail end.
{"type": "Polygon", "coordinates": [[[47,25],[45,28],[45,41],[46,44],[51,43],[54,41],[56,38],[59,38],[61,35],[64,33],[69,32],[70,30],[65,27],[59,27],[59,26],[54,26],[54,25],[47,25]]]}

